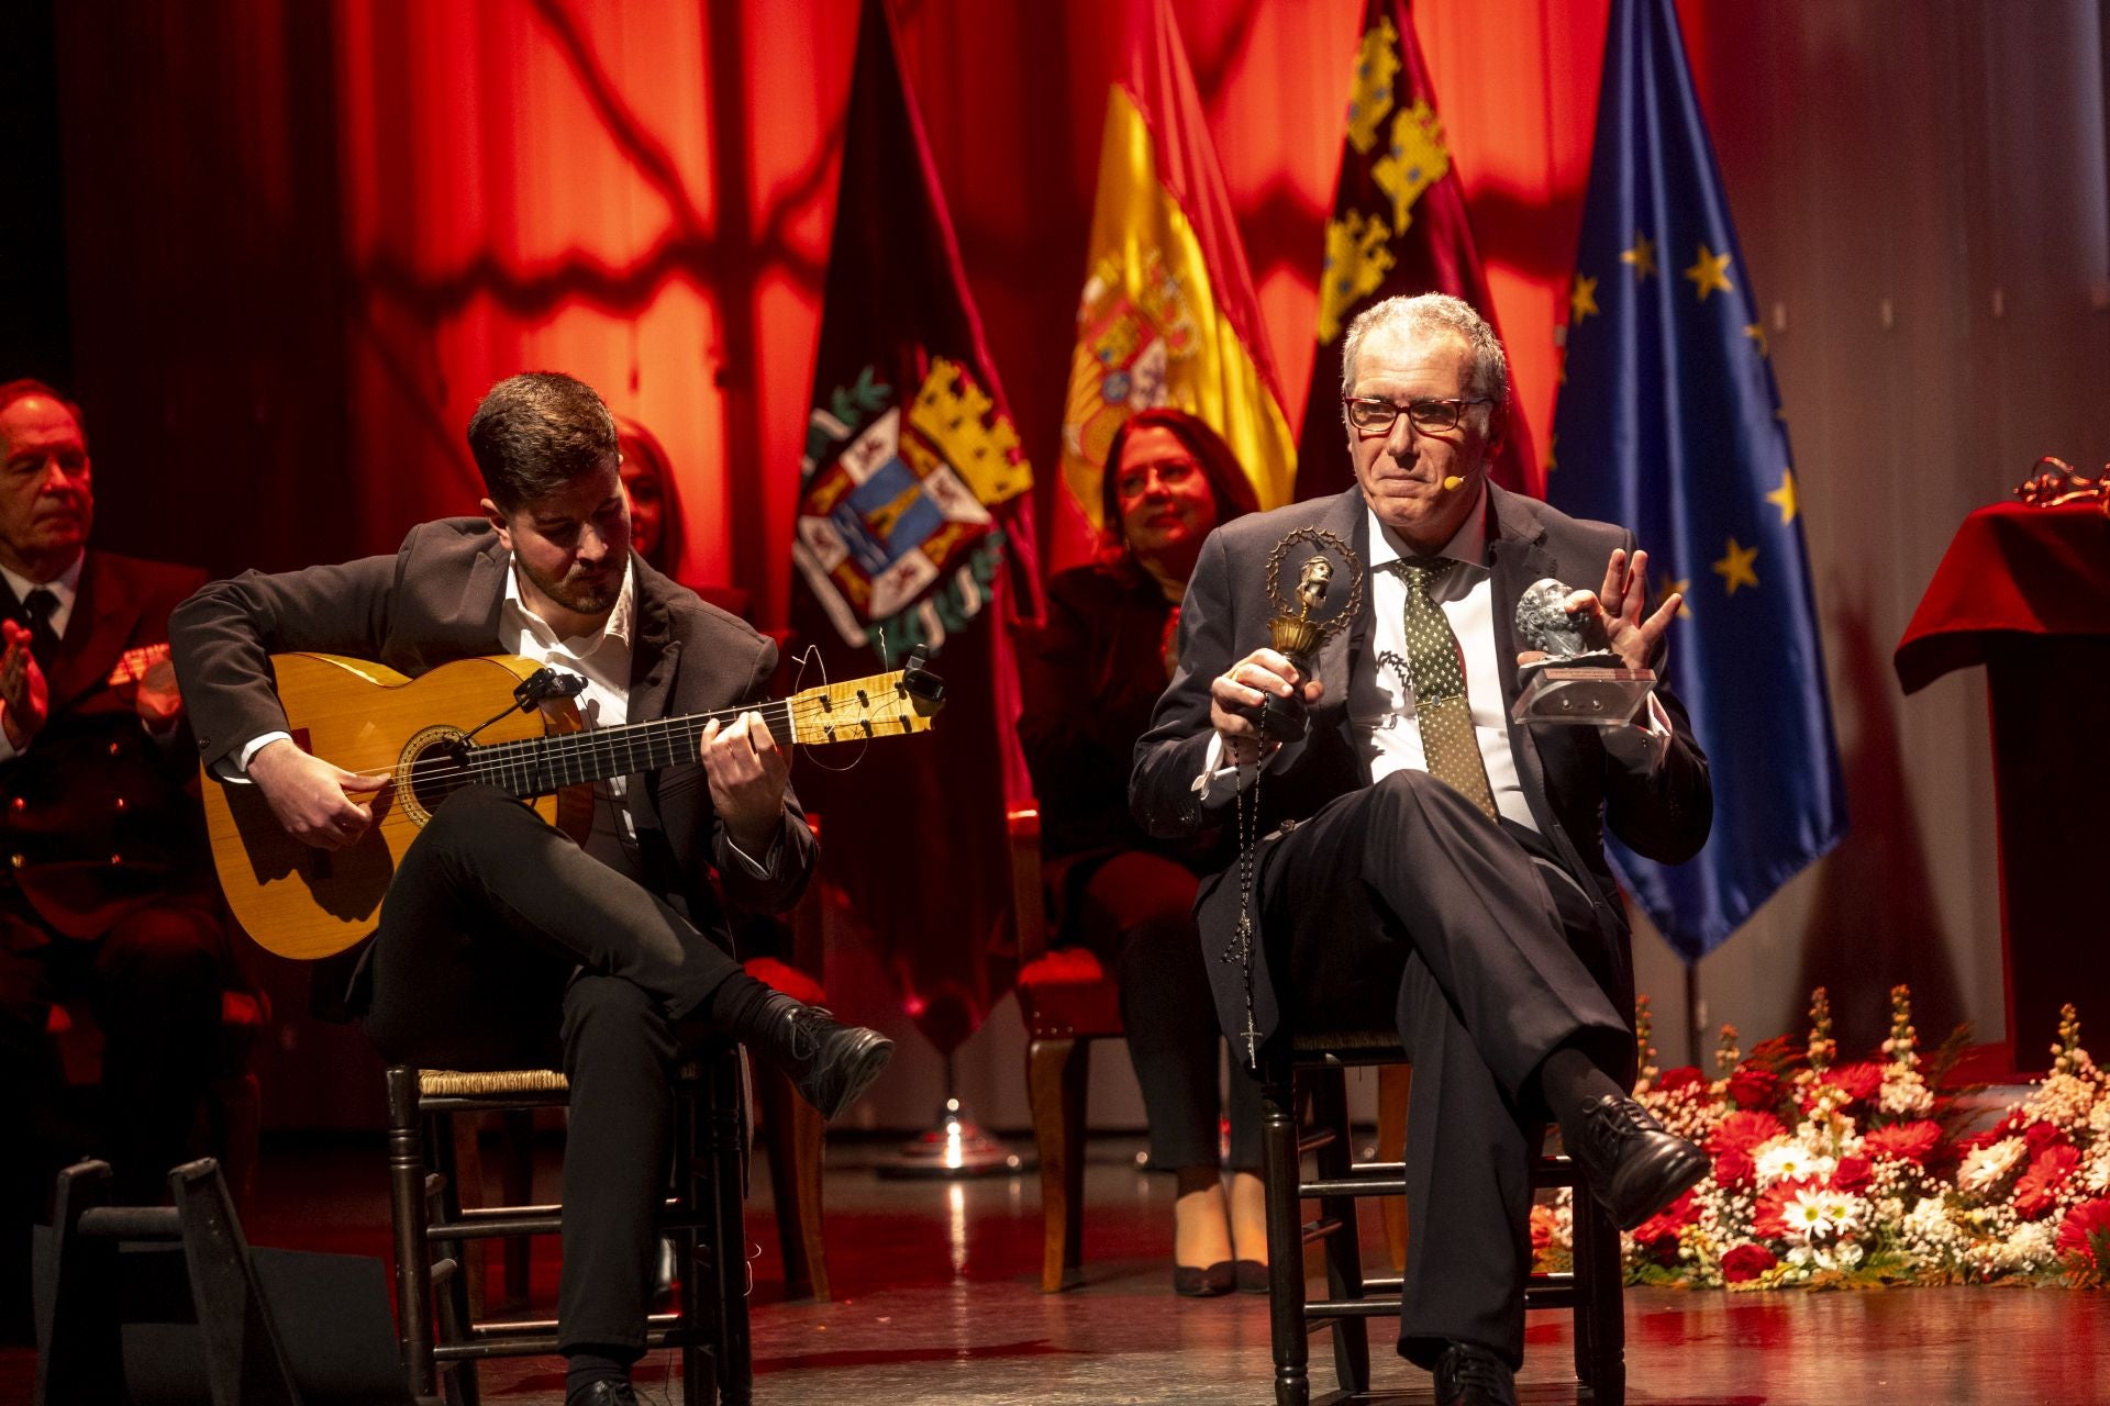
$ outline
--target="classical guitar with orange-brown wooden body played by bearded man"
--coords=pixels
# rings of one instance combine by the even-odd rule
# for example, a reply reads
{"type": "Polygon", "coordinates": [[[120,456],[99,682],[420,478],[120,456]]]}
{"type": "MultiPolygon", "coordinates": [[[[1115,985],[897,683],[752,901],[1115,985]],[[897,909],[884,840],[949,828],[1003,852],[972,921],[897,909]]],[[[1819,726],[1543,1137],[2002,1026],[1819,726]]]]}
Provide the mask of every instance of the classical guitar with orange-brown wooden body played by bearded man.
{"type": "Polygon", "coordinates": [[[281,828],[255,786],[207,774],[213,864],[241,925],[281,957],[329,957],[380,921],[403,852],[460,786],[487,782],[530,801],[574,839],[593,820],[593,782],[696,761],[703,729],[760,712],[779,744],[819,746],[926,731],[945,685],[920,658],[890,675],[829,683],[749,708],[582,729],[576,675],[534,660],[456,660],[405,679],[333,653],[272,656],[293,742],[346,772],[388,776],[373,824],[350,850],[312,850],[281,828]]]}

